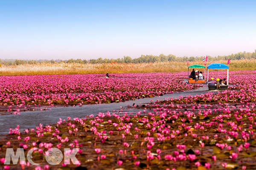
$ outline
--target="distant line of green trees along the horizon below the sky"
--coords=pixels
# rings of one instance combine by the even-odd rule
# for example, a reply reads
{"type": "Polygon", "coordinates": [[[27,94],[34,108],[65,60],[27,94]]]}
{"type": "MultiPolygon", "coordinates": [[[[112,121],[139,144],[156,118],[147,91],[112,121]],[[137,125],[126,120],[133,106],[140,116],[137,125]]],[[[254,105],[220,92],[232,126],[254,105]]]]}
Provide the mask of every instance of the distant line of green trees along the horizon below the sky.
{"type": "MultiPolygon", "coordinates": [[[[176,62],[185,62],[185,61],[202,61],[204,56],[201,57],[176,57],[175,55],[169,54],[168,56],[164,54],[160,54],[159,56],[154,55],[141,55],[139,58],[132,59],[131,57],[123,57],[118,59],[102,59],[101,57],[98,59],[90,59],[90,60],[82,60],[82,59],[69,59],[69,60],[47,60],[47,59],[39,59],[39,60],[23,60],[23,59],[0,59],[1,65],[20,65],[20,64],[36,64],[36,63],[148,63],[148,62],[167,62],[167,61],[176,61],[176,62]]],[[[256,59],[256,50],[253,53],[247,52],[239,52],[237,54],[231,54],[228,56],[218,56],[218,57],[211,57],[208,56],[209,61],[217,61],[217,60],[239,60],[239,59],[256,59]]]]}

